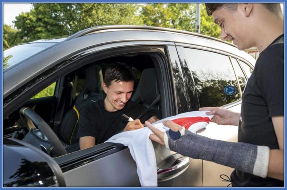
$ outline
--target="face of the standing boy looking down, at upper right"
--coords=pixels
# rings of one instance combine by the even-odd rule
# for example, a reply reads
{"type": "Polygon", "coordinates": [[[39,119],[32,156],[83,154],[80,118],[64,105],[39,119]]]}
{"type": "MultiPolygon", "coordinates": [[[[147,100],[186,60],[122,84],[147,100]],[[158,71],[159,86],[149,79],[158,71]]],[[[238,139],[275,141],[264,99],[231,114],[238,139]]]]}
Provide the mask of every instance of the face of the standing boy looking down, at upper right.
{"type": "Polygon", "coordinates": [[[220,26],[222,40],[231,40],[240,50],[253,46],[248,40],[250,28],[246,27],[248,20],[241,9],[241,4],[238,4],[236,11],[228,10],[226,7],[219,8],[212,13],[212,17],[220,26]]]}

